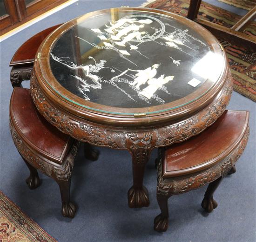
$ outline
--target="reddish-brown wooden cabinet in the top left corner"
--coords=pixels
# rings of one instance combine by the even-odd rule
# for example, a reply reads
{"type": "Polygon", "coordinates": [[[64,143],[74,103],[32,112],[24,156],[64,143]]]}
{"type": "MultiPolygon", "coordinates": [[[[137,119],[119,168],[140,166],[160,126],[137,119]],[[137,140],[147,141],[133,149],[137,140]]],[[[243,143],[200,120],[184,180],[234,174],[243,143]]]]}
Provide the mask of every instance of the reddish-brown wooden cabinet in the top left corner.
{"type": "Polygon", "coordinates": [[[0,34],[24,24],[67,0],[0,0],[0,34]]]}

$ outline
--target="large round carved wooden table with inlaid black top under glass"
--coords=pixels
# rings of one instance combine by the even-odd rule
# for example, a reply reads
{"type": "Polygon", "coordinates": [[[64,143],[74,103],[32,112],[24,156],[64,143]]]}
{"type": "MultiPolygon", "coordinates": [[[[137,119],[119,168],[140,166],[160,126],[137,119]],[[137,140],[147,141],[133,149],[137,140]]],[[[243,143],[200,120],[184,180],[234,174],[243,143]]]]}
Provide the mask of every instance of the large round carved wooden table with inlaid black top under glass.
{"type": "Polygon", "coordinates": [[[192,137],[221,116],[232,92],[222,46],[202,26],[147,8],[112,8],[71,20],[42,42],[31,94],[60,131],[133,160],[132,208],[151,150],[192,137]]]}

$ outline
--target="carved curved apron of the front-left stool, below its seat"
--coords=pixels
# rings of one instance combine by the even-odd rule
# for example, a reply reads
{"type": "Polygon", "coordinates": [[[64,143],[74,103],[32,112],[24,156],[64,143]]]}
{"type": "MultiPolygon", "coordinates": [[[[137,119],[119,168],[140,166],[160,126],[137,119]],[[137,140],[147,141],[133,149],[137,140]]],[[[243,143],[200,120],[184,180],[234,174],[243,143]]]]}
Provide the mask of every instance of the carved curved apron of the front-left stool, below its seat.
{"type": "Polygon", "coordinates": [[[36,156],[30,149],[27,148],[27,145],[24,144],[20,136],[15,131],[11,119],[9,118],[9,126],[11,135],[13,137],[13,142],[20,152],[21,156],[34,168],[39,169],[42,173],[48,177],[53,177],[55,180],[67,181],[71,176],[72,169],[74,166],[74,157],[77,153],[79,142],[74,141],[71,150],[69,151],[65,163],[61,166],[59,164],[53,165],[42,160],[40,157],[36,156]]]}

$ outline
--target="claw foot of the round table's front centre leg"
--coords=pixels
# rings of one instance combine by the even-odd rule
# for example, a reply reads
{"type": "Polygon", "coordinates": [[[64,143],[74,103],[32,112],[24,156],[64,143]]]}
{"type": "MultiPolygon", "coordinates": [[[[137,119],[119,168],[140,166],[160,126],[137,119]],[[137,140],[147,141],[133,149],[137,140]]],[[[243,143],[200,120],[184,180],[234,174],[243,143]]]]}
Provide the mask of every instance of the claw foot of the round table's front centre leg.
{"type": "Polygon", "coordinates": [[[149,206],[148,190],[146,187],[141,189],[132,186],[128,191],[128,205],[130,208],[142,208],[149,206]]]}

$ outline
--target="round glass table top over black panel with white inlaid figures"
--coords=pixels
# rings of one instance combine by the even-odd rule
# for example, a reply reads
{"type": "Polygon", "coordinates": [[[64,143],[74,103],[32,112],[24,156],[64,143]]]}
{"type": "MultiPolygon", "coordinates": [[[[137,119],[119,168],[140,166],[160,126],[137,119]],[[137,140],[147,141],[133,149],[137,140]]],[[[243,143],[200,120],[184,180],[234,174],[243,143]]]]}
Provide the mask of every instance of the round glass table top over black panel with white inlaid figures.
{"type": "Polygon", "coordinates": [[[161,112],[202,97],[222,76],[225,56],[216,39],[190,20],[114,8],[72,20],[48,62],[55,79],[49,84],[63,98],[134,114],[132,109],[161,112]]]}

